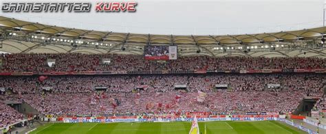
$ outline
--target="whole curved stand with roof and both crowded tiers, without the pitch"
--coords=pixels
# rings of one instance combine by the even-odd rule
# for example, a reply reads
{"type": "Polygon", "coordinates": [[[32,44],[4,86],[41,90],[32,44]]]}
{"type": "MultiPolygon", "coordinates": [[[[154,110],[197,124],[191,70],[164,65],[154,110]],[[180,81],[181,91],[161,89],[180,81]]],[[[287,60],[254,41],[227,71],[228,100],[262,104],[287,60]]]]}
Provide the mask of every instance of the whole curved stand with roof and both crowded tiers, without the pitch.
{"type": "Polygon", "coordinates": [[[8,100],[26,103],[43,117],[74,118],[284,115],[306,97],[317,100],[313,110],[325,110],[325,40],[316,42],[326,27],[160,36],[69,29],[3,16],[0,25],[0,129],[26,118],[6,105],[8,100]],[[176,45],[177,59],[145,60],[144,47],[150,44],[176,45]]]}

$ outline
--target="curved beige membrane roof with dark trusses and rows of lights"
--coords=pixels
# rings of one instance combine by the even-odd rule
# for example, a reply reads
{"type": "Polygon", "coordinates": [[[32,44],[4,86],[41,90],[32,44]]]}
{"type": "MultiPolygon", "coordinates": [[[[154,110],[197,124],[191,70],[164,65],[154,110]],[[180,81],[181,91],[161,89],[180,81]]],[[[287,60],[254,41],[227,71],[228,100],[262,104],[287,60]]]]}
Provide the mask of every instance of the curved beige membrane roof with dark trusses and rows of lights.
{"type": "MultiPolygon", "coordinates": [[[[109,27],[109,25],[108,25],[109,27]]],[[[3,38],[2,49],[9,53],[134,53],[142,54],[145,45],[177,45],[181,55],[252,55],[258,53],[253,49],[272,49],[274,56],[297,56],[300,53],[314,53],[310,56],[325,57],[326,51],[305,49],[307,40],[322,38],[326,33],[326,27],[302,29],[298,31],[280,31],[263,34],[224,35],[224,36],[177,36],[177,35],[152,35],[129,34],[112,31],[94,31],[58,27],[55,25],[43,25],[21,21],[15,18],[0,16],[1,33],[17,33],[16,38],[3,38]],[[49,44],[39,40],[27,40],[38,36],[43,40],[54,39],[49,44]],[[25,40],[23,40],[23,38],[25,40]],[[62,40],[61,40],[62,39],[62,40]],[[69,41],[77,42],[72,46],[69,41]],[[79,41],[77,41],[79,40],[79,41]],[[81,41],[80,41],[81,40],[81,41]],[[39,43],[37,43],[39,41],[39,43]],[[79,42],[79,43],[78,43],[79,42]],[[80,43],[81,42],[81,43],[80,43]],[[13,45],[15,44],[15,45],[13,45]],[[276,46],[278,46],[276,48],[276,46]],[[282,52],[281,46],[300,47],[300,53],[288,55],[282,52]],[[122,47],[126,48],[122,51],[122,47]],[[280,47],[280,48],[279,48],[280,47]],[[221,49],[222,48],[222,49],[221,49]],[[252,49],[252,51],[245,51],[252,49]],[[200,53],[198,53],[200,50],[200,53]],[[230,51],[230,53],[228,53],[230,51]]],[[[296,51],[295,49],[294,51],[296,51]]],[[[267,52],[265,52],[267,53],[267,52]]],[[[262,55],[265,55],[262,54],[262,55]]],[[[273,57],[274,57],[273,56],[273,57]]]]}

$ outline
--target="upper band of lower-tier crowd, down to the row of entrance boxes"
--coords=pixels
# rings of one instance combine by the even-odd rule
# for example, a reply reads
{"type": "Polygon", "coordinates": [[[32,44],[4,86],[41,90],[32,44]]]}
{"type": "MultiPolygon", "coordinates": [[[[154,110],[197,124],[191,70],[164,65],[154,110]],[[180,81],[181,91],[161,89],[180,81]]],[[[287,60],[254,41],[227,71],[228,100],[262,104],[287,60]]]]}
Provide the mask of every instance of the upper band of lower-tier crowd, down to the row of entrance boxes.
{"type": "Polygon", "coordinates": [[[185,85],[188,92],[209,91],[215,84],[226,84],[229,90],[263,91],[267,84],[280,84],[284,90],[303,90],[309,96],[322,94],[325,75],[278,74],[278,75],[83,75],[50,76],[40,81],[39,77],[0,77],[0,88],[16,94],[36,94],[43,87],[53,93],[85,93],[96,87],[105,87],[109,92],[131,92],[142,89],[154,92],[175,90],[175,85],[185,85]]]}

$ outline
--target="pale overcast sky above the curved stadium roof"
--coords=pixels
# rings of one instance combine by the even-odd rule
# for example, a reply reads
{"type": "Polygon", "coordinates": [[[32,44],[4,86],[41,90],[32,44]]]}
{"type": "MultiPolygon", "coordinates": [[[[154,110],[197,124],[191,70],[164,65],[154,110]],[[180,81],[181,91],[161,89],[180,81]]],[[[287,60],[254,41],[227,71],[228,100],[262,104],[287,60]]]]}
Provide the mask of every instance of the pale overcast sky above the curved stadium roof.
{"type": "MultiPolygon", "coordinates": [[[[41,0],[18,2],[30,1],[41,0]]],[[[65,0],[42,0],[45,1],[65,0]]],[[[100,0],[80,1],[91,2],[94,9],[100,0]]],[[[137,3],[134,13],[91,10],[89,13],[0,14],[48,25],[139,34],[253,34],[323,26],[324,0],[137,0],[137,3]]]]}

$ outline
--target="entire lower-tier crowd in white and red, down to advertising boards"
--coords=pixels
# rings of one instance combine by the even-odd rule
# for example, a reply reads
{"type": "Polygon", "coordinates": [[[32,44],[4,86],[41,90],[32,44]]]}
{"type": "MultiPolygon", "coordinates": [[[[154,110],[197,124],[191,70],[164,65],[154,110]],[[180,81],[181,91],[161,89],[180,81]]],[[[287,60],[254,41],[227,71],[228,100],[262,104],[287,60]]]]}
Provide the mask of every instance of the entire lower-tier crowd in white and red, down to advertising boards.
{"type": "Polygon", "coordinates": [[[55,115],[127,111],[285,113],[296,109],[304,96],[320,97],[325,83],[323,74],[85,75],[50,76],[43,81],[39,77],[0,77],[0,87],[11,90],[41,113],[55,115]],[[270,90],[266,86],[269,83],[281,88],[270,90]],[[228,88],[216,90],[215,84],[228,88]],[[186,85],[186,90],[176,90],[175,85],[186,85]],[[107,90],[96,91],[96,87],[107,90]],[[198,90],[207,94],[203,103],[197,102],[198,90]]]}

